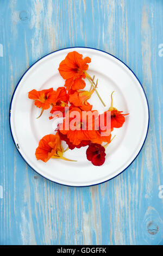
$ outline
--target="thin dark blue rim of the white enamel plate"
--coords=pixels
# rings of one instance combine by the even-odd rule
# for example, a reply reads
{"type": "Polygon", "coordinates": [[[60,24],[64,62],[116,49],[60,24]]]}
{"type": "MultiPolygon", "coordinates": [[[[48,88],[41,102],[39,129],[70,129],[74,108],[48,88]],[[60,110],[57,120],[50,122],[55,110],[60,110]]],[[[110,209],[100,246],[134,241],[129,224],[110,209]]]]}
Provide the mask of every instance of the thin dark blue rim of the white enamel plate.
{"type": "Polygon", "coordinates": [[[144,95],[145,95],[146,102],[147,102],[147,107],[148,107],[148,126],[147,126],[147,133],[146,133],[145,140],[143,141],[142,147],[141,147],[141,149],[139,150],[139,153],[135,156],[134,160],[133,160],[126,168],[124,168],[124,169],[122,170],[122,172],[118,173],[117,175],[115,175],[114,177],[112,177],[112,178],[110,178],[110,179],[108,179],[108,180],[99,182],[99,183],[97,183],[97,184],[86,185],[86,186],[72,186],[72,185],[66,185],[66,184],[61,184],[61,183],[59,183],[59,182],[50,180],[50,179],[46,178],[45,176],[41,175],[40,173],[38,173],[32,166],[30,166],[30,164],[26,161],[26,159],[24,159],[24,157],[22,156],[22,154],[20,153],[20,151],[18,150],[18,148],[17,148],[17,146],[16,146],[14,137],[13,137],[13,135],[12,135],[12,130],[11,130],[11,120],[10,120],[10,117],[11,117],[12,100],[13,100],[14,94],[15,94],[15,92],[16,92],[16,89],[17,89],[17,87],[18,87],[18,84],[20,84],[20,82],[21,82],[23,76],[28,72],[28,70],[29,70],[30,68],[32,68],[33,65],[35,65],[37,62],[39,62],[39,60],[45,58],[46,56],[48,56],[48,55],[50,55],[50,54],[52,54],[52,53],[54,53],[54,52],[59,52],[59,51],[65,50],[65,49],[73,49],[73,48],[87,48],[87,49],[93,49],[93,50],[97,50],[97,51],[100,51],[100,52],[104,52],[104,53],[109,54],[110,56],[112,56],[112,57],[118,59],[118,58],[115,57],[114,55],[112,55],[112,54],[110,54],[110,53],[108,53],[108,52],[105,52],[105,51],[103,51],[103,50],[99,50],[99,49],[92,48],[92,47],[84,47],[84,46],[66,47],[66,48],[62,48],[62,49],[60,49],[60,50],[53,51],[53,52],[51,52],[51,53],[46,54],[46,55],[43,56],[42,58],[38,59],[35,63],[33,63],[33,64],[26,70],[26,72],[24,72],[24,74],[22,75],[22,77],[21,77],[20,80],[18,81],[18,83],[17,83],[17,85],[16,85],[16,87],[15,87],[14,93],[12,94],[11,101],[10,101],[10,107],[9,107],[9,125],[10,125],[11,136],[12,136],[12,139],[13,139],[13,141],[14,141],[14,144],[15,144],[15,147],[16,147],[18,153],[21,155],[21,157],[22,157],[22,159],[24,160],[24,162],[26,162],[26,163],[28,164],[28,166],[29,166],[30,168],[32,168],[37,174],[39,174],[40,176],[42,176],[43,178],[45,178],[45,179],[47,179],[47,180],[49,180],[49,181],[51,181],[51,182],[54,182],[54,183],[59,184],[59,185],[62,185],[62,186],[68,186],[68,187],[91,187],[91,186],[96,186],[96,185],[99,185],[99,184],[103,184],[104,182],[107,182],[107,181],[109,181],[109,180],[112,180],[112,179],[116,178],[118,175],[120,175],[121,173],[123,173],[124,170],[126,170],[126,169],[131,165],[131,163],[133,163],[133,162],[135,161],[136,157],[140,154],[140,151],[142,150],[142,147],[143,147],[143,145],[145,144],[145,141],[146,141],[146,138],[147,138],[147,135],[148,135],[148,129],[149,129],[149,104],[148,104],[148,100],[147,100],[147,95],[146,95],[146,93],[145,93],[145,90],[144,90],[144,88],[143,88],[143,86],[142,86],[142,84],[141,84],[139,78],[137,78],[137,76],[135,75],[135,73],[129,68],[128,65],[126,65],[124,62],[122,62],[121,59],[118,59],[118,60],[119,60],[120,62],[122,62],[125,66],[127,66],[127,68],[133,73],[133,75],[136,77],[137,81],[139,82],[139,84],[140,84],[140,86],[141,86],[141,88],[142,88],[142,90],[143,90],[143,93],[144,93],[144,95]]]}

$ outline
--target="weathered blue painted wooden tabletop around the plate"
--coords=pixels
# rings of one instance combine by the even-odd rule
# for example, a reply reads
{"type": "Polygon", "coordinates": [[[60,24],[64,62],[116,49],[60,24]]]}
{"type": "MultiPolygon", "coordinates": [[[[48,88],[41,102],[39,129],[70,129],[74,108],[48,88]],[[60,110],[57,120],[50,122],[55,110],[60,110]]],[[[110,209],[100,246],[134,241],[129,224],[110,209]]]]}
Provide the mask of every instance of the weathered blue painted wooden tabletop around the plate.
{"type": "Polygon", "coordinates": [[[163,245],[162,17],[162,0],[0,0],[1,245],[163,245]],[[18,154],[9,130],[11,95],[24,71],[70,46],[122,59],[150,108],[140,155],[93,187],[43,179],[18,154]]]}

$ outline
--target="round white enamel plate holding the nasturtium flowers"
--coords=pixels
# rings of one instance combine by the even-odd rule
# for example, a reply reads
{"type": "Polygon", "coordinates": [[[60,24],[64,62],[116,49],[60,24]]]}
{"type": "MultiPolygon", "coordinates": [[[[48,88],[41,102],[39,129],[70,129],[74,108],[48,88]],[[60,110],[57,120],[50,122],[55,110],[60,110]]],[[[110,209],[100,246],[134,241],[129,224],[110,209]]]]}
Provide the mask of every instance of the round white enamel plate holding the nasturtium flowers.
{"type": "MultiPolygon", "coordinates": [[[[90,88],[86,82],[86,89],[90,88]]],[[[30,167],[43,177],[68,186],[91,186],[108,181],[125,170],[139,154],[145,142],[149,110],[145,92],[134,73],[121,60],[92,48],[66,48],[48,54],[31,66],[18,82],[10,103],[10,129],[14,143],[30,167]],[[110,107],[110,95],[113,94],[114,107],[126,116],[126,122],[120,129],[114,129],[113,141],[106,148],[106,160],[103,166],[93,166],[86,159],[86,148],[68,150],[65,157],[77,160],[67,162],[50,159],[47,163],[35,158],[35,150],[40,139],[54,131],[54,120],[49,120],[49,110],[39,119],[40,109],[34,101],[28,99],[32,89],[42,90],[64,86],[65,81],[58,72],[59,63],[68,52],[77,51],[83,57],[89,56],[91,63],[87,71],[98,78],[98,92],[106,107],[103,107],[96,93],[90,103],[93,109],[102,113],[110,107]]],[[[63,144],[66,148],[66,144],[63,144]]]]}

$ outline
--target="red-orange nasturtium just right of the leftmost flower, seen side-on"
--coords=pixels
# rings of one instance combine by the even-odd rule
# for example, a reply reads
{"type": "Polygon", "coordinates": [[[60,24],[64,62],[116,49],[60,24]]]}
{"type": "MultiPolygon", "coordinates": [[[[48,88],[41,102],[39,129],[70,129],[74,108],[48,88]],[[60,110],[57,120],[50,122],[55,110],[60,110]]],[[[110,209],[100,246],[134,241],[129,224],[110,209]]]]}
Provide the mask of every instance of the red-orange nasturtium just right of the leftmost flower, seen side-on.
{"type": "MultiPolygon", "coordinates": [[[[54,112],[62,112],[63,117],[65,116],[65,107],[68,106],[68,95],[65,87],[59,87],[55,92],[54,101],[52,102],[51,114],[54,112]]],[[[56,115],[52,115],[49,119],[54,118],[56,115]]]]}

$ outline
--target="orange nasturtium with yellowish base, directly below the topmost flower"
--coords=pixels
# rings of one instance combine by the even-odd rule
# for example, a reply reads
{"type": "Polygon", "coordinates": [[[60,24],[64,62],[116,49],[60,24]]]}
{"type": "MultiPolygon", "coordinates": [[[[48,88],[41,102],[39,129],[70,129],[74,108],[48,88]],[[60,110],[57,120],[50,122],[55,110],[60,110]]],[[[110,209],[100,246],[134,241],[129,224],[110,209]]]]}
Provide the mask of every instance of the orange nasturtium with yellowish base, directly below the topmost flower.
{"type": "Polygon", "coordinates": [[[69,101],[73,104],[73,106],[80,107],[84,111],[90,111],[92,109],[92,105],[90,105],[87,100],[90,99],[94,89],[91,92],[87,90],[77,90],[69,95],[69,101]]]}

